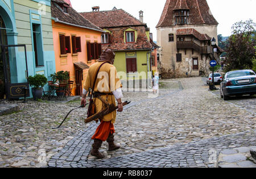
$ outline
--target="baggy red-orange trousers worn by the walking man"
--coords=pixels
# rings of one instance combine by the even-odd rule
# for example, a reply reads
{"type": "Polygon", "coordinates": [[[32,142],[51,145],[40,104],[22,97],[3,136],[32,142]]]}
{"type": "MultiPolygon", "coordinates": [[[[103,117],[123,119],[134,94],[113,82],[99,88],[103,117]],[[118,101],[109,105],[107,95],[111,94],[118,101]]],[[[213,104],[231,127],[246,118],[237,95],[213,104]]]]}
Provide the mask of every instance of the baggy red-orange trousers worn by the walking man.
{"type": "Polygon", "coordinates": [[[98,139],[101,141],[106,141],[109,137],[109,134],[114,134],[114,124],[110,122],[105,122],[101,120],[100,126],[96,129],[95,134],[92,136],[92,139],[98,139]]]}

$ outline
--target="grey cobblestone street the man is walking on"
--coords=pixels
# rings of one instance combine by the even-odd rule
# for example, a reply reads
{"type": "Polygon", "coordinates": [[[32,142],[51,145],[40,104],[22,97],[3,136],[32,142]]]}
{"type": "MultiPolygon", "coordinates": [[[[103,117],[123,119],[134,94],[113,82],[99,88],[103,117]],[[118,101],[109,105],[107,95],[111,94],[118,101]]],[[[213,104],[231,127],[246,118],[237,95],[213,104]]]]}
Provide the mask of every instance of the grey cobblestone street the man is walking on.
{"type": "Polygon", "coordinates": [[[223,149],[255,143],[255,97],[223,101],[208,91],[201,77],[160,82],[156,98],[125,92],[131,101],[115,123],[115,141],[121,149],[90,156],[90,138],[98,124],[81,120],[86,110],[74,111],[56,127],[70,103],[20,103],[20,112],[0,116],[0,166],[49,167],[215,167],[223,149]]]}

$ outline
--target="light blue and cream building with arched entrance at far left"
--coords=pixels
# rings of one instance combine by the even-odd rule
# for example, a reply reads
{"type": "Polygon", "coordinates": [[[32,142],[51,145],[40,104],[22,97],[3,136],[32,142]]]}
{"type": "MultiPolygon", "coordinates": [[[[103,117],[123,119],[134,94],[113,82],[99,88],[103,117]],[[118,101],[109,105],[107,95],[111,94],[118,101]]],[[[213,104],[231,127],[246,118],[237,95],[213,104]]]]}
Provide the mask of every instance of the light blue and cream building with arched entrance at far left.
{"type": "Polygon", "coordinates": [[[51,1],[0,0],[0,24],[0,99],[18,99],[28,76],[55,72],[51,1]]]}

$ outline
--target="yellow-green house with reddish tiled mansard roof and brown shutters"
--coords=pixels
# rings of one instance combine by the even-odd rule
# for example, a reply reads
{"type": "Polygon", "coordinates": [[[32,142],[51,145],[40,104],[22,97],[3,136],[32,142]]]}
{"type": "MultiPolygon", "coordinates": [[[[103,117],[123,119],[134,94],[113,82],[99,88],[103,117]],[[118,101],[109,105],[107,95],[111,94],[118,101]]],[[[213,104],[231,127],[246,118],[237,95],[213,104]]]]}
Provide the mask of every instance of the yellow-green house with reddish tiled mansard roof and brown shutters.
{"type": "Polygon", "coordinates": [[[137,89],[145,84],[151,85],[150,60],[153,48],[149,28],[142,22],[143,12],[139,13],[141,20],[115,7],[110,11],[100,11],[100,7],[96,6],[92,12],[80,13],[104,30],[101,36],[102,49],[109,47],[115,52],[114,65],[123,86],[131,88],[135,81],[137,89]]]}

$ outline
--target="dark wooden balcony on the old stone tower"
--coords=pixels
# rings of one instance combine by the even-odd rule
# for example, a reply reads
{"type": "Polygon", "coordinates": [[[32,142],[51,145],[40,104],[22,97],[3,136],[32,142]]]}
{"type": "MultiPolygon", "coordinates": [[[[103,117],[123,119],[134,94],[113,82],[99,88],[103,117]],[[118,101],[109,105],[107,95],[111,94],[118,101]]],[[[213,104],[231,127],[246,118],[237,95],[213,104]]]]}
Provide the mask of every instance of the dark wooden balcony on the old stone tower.
{"type": "Polygon", "coordinates": [[[201,54],[208,54],[211,52],[209,47],[201,47],[193,41],[177,41],[177,49],[193,49],[201,54]]]}

